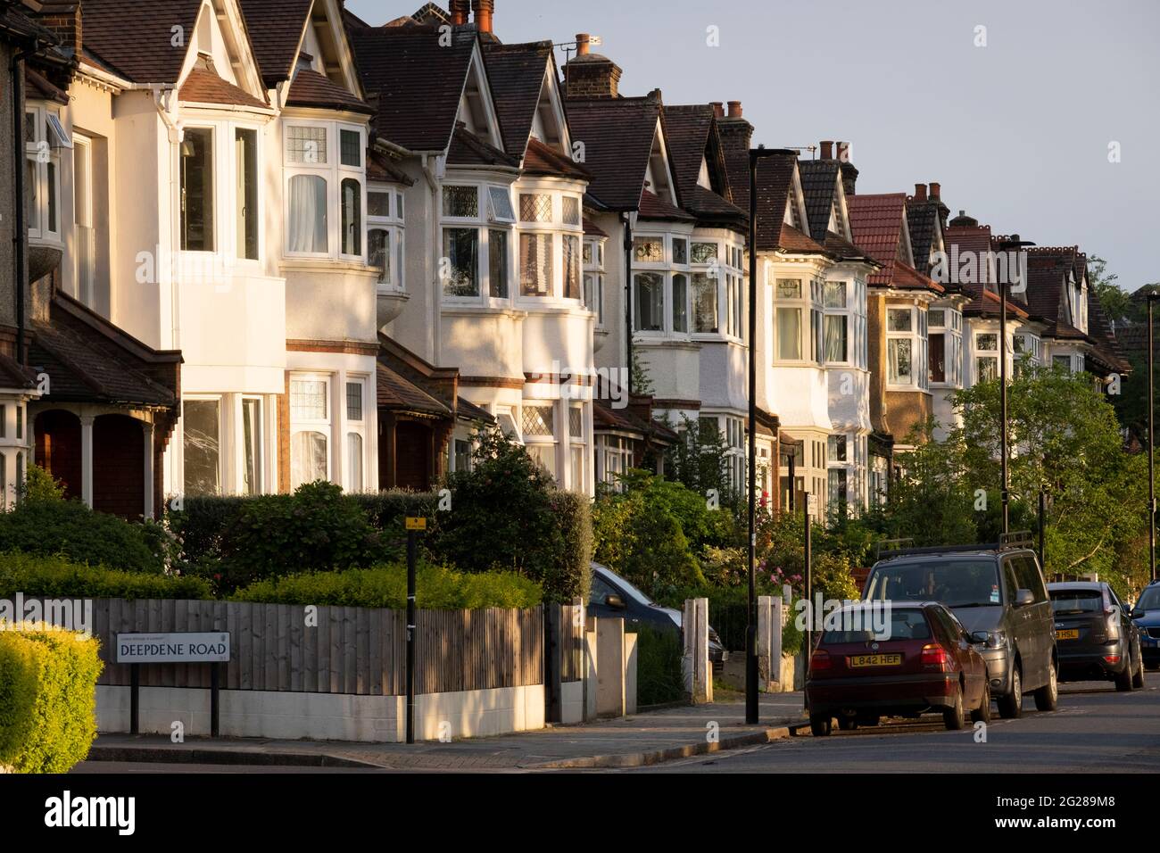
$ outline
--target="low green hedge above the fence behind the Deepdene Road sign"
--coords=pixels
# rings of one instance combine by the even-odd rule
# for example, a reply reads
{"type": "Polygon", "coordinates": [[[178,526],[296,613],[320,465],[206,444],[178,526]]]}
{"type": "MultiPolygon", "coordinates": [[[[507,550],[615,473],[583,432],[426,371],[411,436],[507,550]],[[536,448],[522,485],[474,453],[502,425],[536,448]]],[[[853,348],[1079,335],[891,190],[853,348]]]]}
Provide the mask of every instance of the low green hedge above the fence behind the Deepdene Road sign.
{"type": "Polygon", "coordinates": [[[17,592],[46,598],[209,599],[202,578],[87,566],[63,557],[0,554],[0,598],[17,592]]]}

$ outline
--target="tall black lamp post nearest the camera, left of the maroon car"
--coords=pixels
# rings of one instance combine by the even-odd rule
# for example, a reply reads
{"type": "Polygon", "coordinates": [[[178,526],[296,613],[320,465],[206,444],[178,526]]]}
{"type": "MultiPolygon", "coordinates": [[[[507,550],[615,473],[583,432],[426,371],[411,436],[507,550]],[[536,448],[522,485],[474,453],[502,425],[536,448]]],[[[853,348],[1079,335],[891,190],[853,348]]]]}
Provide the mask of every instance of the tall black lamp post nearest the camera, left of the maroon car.
{"type": "Polygon", "coordinates": [[[749,620],[745,628],[745,722],[757,722],[757,581],[755,573],[755,550],[757,545],[757,161],[764,157],[796,157],[796,151],[767,149],[759,145],[749,149],[749,620]]]}

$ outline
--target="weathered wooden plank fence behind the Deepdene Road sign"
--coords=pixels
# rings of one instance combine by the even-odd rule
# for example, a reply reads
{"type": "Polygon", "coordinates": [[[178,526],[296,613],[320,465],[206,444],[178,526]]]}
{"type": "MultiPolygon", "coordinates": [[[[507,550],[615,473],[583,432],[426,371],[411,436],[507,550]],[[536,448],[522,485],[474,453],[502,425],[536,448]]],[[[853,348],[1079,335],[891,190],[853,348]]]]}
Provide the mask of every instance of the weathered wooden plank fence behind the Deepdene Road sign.
{"type": "MultiPolygon", "coordinates": [[[[99,684],[126,686],[117,664],[117,634],[229,631],[230,663],[222,687],[401,695],[407,631],[401,610],[306,608],[242,601],[93,599],[93,634],[106,662],[99,684]],[[316,627],[317,626],[317,627],[316,627]]],[[[543,609],[420,610],[415,693],[445,693],[543,684],[543,609]]],[[[209,664],[148,664],[143,687],[209,687],[209,664]]]]}

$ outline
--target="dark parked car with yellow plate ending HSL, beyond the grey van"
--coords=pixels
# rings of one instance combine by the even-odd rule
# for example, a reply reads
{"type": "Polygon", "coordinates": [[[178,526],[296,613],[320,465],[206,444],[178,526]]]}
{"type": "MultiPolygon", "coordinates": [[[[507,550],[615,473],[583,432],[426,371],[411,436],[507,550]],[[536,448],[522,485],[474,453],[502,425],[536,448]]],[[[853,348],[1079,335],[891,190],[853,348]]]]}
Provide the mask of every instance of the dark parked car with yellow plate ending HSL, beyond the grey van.
{"type": "Polygon", "coordinates": [[[1047,584],[1047,594],[1060,681],[1115,681],[1117,691],[1144,686],[1140,629],[1107,583],[1047,584]]]}

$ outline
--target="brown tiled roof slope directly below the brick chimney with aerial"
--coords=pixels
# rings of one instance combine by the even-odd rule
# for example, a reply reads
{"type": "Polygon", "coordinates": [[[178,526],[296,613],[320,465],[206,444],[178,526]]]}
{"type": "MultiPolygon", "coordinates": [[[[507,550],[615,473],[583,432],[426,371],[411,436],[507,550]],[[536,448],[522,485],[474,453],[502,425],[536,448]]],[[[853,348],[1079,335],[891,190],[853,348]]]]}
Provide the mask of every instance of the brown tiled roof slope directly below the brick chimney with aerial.
{"type": "Polygon", "coordinates": [[[570,97],[572,138],[583,144],[593,174],[588,193],[611,210],[637,210],[652,154],[660,101],[651,97],[570,97]]]}

